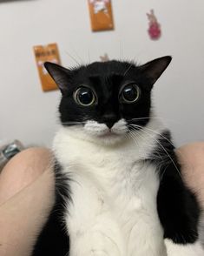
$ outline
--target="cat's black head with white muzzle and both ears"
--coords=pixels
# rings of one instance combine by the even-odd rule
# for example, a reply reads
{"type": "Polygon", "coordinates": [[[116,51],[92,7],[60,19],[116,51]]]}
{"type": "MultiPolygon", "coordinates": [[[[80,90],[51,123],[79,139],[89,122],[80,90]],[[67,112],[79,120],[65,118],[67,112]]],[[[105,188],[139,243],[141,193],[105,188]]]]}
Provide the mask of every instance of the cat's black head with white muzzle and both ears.
{"type": "Polygon", "coordinates": [[[121,141],[148,124],[153,84],[170,61],[169,56],[143,65],[113,60],[72,70],[45,63],[62,91],[62,125],[91,141],[121,141]]]}

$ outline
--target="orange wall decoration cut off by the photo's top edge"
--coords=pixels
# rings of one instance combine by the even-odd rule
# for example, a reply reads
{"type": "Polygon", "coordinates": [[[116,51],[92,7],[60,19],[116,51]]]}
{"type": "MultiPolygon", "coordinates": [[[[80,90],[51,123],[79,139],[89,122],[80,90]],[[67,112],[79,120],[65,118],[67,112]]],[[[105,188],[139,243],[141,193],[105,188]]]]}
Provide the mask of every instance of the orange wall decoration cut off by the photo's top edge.
{"type": "Polygon", "coordinates": [[[93,31],[113,30],[113,14],[110,0],[88,0],[93,31]]]}

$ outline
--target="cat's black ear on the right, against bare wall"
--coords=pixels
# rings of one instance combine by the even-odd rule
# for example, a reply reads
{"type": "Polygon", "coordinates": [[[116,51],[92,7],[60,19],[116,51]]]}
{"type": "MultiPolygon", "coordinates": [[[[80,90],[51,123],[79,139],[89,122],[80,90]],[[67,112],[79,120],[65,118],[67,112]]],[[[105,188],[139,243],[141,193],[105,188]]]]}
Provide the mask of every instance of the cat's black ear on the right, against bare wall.
{"type": "Polygon", "coordinates": [[[161,76],[163,71],[166,70],[168,64],[172,60],[171,56],[159,57],[156,58],[147,64],[140,66],[141,74],[148,78],[148,84],[152,87],[155,84],[156,80],[161,76]]]}

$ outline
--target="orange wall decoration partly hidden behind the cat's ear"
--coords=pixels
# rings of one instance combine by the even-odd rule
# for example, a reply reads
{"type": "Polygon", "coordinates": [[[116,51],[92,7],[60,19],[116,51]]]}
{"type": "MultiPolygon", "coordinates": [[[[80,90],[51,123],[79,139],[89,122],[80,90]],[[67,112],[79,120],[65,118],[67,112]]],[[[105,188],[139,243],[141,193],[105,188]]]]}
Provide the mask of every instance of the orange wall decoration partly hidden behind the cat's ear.
{"type": "Polygon", "coordinates": [[[46,61],[60,64],[60,57],[57,44],[47,44],[34,46],[36,56],[36,65],[41,79],[43,91],[52,91],[58,89],[56,83],[49,76],[48,71],[44,68],[46,61]]]}

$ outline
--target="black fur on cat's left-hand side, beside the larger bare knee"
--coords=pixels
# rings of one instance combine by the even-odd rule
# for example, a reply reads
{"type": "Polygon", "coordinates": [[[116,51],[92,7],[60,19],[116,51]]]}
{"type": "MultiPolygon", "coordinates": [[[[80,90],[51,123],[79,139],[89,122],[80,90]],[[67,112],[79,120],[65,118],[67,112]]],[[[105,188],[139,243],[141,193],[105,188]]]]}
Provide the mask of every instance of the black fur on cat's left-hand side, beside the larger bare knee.
{"type": "Polygon", "coordinates": [[[61,172],[61,166],[55,165],[56,202],[49,214],[49,219],[36,240],[32,256],[67,256],[69,236],[63,224],[63,200],[70,200],[68,179],[61,172]]]}

